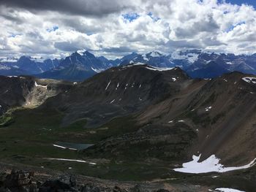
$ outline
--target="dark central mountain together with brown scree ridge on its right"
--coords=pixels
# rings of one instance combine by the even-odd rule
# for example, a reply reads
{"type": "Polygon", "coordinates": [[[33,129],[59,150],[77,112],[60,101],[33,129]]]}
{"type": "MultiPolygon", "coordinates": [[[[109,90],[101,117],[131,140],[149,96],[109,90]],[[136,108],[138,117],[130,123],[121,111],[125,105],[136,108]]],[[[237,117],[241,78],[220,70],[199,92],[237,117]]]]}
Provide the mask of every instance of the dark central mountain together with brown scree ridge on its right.
{"type": "Polygon", "coordinates": [[[252,139],[256,87],[244,77],[234,72],[213,80],[192,80],[178,68],[119,66],[48,99],[41,107],[64,112],[64,124],[86,118],[91,128],[132,115],[137,131],[103,139],[86,150],[87,155],[127,158],[129,154],[181,162],[202,153],[201,160],[215,154],[225,164],[237,165],[256,156],[252,139]],[[147,150],[140,151],[142,146],[147,150]]]}

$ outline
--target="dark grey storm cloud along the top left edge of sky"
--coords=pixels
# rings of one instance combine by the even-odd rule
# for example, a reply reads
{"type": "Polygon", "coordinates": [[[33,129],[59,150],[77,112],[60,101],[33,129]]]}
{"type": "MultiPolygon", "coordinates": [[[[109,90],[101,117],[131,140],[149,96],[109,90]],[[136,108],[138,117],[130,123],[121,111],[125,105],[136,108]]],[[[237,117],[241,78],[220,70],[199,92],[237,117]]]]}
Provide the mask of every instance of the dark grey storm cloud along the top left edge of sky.
{"type": "Polygon", "coordinates": [[[31,12],[56,11],[70,15],[103,16],[129,8],[122,0],[1,0],[0,5],[27,9],[31,12]]]}

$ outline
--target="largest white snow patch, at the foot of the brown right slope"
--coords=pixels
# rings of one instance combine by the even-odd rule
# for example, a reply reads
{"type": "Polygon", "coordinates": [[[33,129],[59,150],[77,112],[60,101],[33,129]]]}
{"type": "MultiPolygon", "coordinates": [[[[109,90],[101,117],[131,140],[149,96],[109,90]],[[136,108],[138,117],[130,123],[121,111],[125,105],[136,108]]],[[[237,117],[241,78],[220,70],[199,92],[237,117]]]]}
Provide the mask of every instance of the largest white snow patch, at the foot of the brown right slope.
{"type": "Polygon", "coordinates": [[[224,165],[219,164],[220,159],[215,155],[211,155],[205,161],[198,162],[200,159],[200,155],[193,155],[193,160],[187,163],[182,164],[182,168],[173,169],[176,172],[184,172],[184,173],[208,173],[208,172],[230,172],[238,169],[248,169],[251,166],[256,164],[256,158],[251,161],[249,164],[244,166],[233,166],[233,167],[224,167],[224,165]]]}

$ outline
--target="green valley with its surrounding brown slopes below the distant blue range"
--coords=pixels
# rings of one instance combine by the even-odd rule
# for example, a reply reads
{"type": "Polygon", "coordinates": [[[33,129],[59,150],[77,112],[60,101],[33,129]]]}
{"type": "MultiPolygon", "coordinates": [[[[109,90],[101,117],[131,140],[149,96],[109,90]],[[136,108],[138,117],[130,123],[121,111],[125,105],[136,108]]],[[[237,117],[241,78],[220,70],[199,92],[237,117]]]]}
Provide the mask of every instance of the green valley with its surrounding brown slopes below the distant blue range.
{"type": "Polygon", "coordinates": [[[168,185],[177,191],[254,191],[252,75],[192,79],[178,67],[138,64],[77,83],[2,78],[23,88],[0,98],[3,114],[11,117],[0,128],[1,164],[7,167],[168,185]],[[199,162],[216,155],[224,167],[252,164],[231,172],[176,172],[192,155],[199,162]]]}

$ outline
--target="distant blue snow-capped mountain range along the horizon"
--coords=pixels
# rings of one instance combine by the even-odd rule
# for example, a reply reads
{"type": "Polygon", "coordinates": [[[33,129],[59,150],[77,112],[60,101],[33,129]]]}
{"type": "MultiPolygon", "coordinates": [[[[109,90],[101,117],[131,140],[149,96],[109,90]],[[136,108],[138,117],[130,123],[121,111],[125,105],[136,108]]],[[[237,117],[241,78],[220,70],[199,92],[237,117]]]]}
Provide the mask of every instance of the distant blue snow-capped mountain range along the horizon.
{"type": "Polygon", "coordinates": [[[89,51],[75,52],[64,59],[42,60],[22,56],[19,59],[0,59],[0,74],[31,74],[39,78],[80,81],[113,66],[138,63],[160,68],[178,66],[194,78],[218,77],[234,71],[256,74],[256,54],[204,53],[201,50],[177,51],[170,54],[158,51],[146,54],[131,53],[116,60],[109,60],[103,56],[96,57],[89,51]]]}

